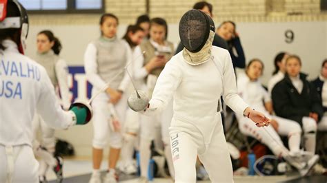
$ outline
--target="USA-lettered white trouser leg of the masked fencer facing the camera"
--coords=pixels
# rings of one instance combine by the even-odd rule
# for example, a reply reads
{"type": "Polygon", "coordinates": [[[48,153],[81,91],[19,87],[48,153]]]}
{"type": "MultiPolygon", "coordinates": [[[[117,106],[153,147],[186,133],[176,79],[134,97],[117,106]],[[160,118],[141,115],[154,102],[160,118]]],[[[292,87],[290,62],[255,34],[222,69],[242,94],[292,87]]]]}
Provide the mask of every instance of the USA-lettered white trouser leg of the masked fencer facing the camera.
{"type": "MultiPolygon", "coordinates": [[[[200,136],[201,138],[201,136],[200,136]]],[[[181,131],[170,131],[172,162],[175,169],[175,182],[196,182],[195,163],[198,144],[196,137],[181,131]]],[[[201,141],[201,139],[199,139],[201,141]]]]}

